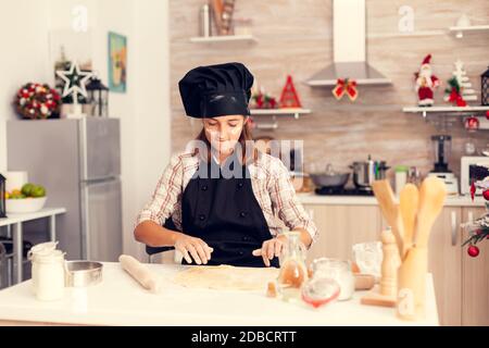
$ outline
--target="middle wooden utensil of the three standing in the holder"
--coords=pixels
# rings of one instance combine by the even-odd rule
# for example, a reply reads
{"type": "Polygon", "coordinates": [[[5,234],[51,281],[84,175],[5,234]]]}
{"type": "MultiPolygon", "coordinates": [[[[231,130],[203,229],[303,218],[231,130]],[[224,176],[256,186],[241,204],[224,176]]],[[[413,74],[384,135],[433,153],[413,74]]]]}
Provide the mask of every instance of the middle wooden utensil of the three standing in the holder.
{"type": "Polygon", "coordinates": [[[416,215],[419,202],[419,191],[414,184],[406,184],[401,190],[399,197],[399,208],[402,219],[402,224],[404,226],[403,234],[403,247],[404,251],[401,256],[402,259],[405,258],[408,250],[414,244],[414,228],[416,224],[416,215]]]}

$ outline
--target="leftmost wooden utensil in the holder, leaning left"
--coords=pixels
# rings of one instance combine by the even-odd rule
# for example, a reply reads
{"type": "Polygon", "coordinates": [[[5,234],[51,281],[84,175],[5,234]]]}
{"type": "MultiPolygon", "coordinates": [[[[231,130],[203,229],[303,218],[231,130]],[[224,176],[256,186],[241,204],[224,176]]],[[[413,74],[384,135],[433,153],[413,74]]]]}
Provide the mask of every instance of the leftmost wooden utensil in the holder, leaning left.
{"type": "Polygon", "coordinates": [[[375,181],[372,184],[375,197],[380,206],[380,211],[386,219],[387,223],[392,228],[392,233],[396,237],[396,244],[398,245],[399,254],[404,254],[403,235],[404,226],[402,224],[402,219],[399,213],[399,208],[396,204],[396,197],[390,187],[390,183],[387,179],[375,181]]]}

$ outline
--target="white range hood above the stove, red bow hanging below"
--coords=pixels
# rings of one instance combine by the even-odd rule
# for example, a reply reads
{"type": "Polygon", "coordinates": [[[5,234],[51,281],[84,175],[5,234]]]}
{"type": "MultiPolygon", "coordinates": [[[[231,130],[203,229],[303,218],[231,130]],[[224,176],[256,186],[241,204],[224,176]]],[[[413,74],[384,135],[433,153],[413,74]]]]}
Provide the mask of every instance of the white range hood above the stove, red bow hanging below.
{"type": "Polygon", "coordinates": [[[365,17],[365,0],[333,0],[334,62],[308,85],[336,86],[338,78],[352,78],[358,85],[391,84],[366,62],[365,17]]]}

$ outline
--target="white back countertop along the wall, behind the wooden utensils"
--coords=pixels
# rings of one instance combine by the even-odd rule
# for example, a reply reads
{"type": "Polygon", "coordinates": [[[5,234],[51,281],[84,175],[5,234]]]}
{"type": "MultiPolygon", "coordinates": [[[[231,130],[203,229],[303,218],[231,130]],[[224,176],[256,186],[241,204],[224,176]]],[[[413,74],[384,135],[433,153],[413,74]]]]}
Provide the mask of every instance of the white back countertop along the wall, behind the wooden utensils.
{"type": "MultiPolygon", "coordinates": [[[[316,194],[298,194],[302,204],[326,204],[326,206],[377,206],[374,196],[321,196],[316,194]]],[[[469,196],[449,196],[444,207],[484,207],[482,197],[475,197],[472,201],[469,196]]]]}

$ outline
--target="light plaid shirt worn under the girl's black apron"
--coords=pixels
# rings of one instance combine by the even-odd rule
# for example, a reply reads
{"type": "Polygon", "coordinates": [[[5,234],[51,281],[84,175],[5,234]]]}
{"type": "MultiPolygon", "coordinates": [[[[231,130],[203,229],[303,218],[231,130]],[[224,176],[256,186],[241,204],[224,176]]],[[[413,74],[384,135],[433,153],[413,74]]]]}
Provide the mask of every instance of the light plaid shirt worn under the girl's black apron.
{"type": "MultiPolygon", "coordinates": [[[[165,220],[172,216],[175,226],[183,232],[181,197],[198,167],[198,156],[190,152],[173,156],[151,199],[138,214],[136,225],[148,220],[163,225],[165,220]]],[[[284,163],[278,158],[260,152],[256,161],[248,164],[248,171],[253,194],[262,208],[271,237],[280,231],[276,219],[278,216],[290,229],[296,227],[306,229],[314,243],[317,238],[317,228],[298,201],[284,163]]]]}

